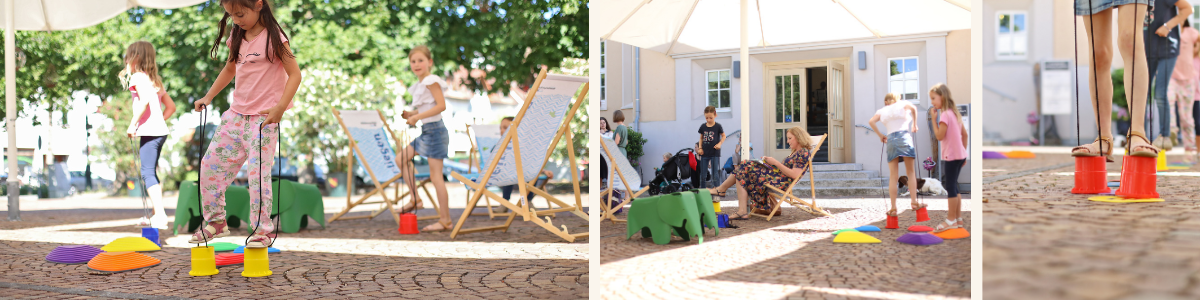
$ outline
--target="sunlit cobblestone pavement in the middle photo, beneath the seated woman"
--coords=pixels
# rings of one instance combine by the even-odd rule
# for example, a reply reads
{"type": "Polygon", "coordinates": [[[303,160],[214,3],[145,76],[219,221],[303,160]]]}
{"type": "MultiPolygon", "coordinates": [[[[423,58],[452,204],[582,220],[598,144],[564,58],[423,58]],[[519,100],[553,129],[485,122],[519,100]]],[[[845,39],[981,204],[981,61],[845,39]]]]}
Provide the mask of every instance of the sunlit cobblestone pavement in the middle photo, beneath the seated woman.
{"type": "MultiPolygon", "coordinates": [[[[970,196],[967,196],[970,198],[970,196]]],[[[932,220],[944,220],[944,197],[925,197],[932,220]]],[[[900,227],[916,224],[907,200],[900,227]]],[[[703,244],[672,238],[655,245],[640,234],[625,239],[625,224],[602,221],[604,299],[970,299],[971,240],[912,246],[895,241],[905,230],[869,233],[882,244],[833,244],[836,229],[884,226],[881,198],[817,199],[833,217],[785,206],[766,221],[734,221],[737,229],[712,232],[703,244]]],[[[725,214],[737,202],[722,202],[725,214]]],[[[970,223],[970,203],[964,218],[970,223]]],[[[624,217],[624,215],[619,215],[624,217]]],[[[934,226],[934,221],[922,224],[934,226]]]]}

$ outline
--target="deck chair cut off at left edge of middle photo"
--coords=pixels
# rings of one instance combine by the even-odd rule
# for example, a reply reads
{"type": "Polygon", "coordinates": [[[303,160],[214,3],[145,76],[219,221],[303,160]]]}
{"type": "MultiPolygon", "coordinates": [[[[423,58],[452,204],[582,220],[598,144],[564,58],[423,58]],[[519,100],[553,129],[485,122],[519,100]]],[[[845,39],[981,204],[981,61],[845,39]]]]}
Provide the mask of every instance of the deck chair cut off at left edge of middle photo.
{"type": "Polygon", "coordinates": [[[629,163],[629,158],[625,158],[625,155],[620,154],[620,151],[617,150],[618,149],[617,142],[613,142],[612,139],[607,138],[601,138],[600,148],[604,149],[604,151],[600,151],[600,158],[608,162],[608,182],[610,182],[608,187],[600,192],[600,200],[601,200],[600,210],[602,211],[600,218],[601,221],[604,218],[608,218],[608,221],[612,221],[614,223],[625,222],[626,220],[619,220],[616,216],[613,216],[612,191],[622,190],[617,188],[617,186],[624,186],[625,187],[624,191],[632,192],[631,194],[625,197],[625,199],[617,199],[620,202],[620,205],[617,205],[617,208],[619,209],[624,208],[634,199],[637,199],[638,196],[642,196],[642,193],[649,191],[650,187],[646,186],[642,187],[641,190],[637,190],[637,192],[634,192],[635,187],[641,186],[642,176],[638,175],[637,170],[634,169],[634,166],[629,163]],[[632,184],[632,186],[630,184],[632,184]]]}

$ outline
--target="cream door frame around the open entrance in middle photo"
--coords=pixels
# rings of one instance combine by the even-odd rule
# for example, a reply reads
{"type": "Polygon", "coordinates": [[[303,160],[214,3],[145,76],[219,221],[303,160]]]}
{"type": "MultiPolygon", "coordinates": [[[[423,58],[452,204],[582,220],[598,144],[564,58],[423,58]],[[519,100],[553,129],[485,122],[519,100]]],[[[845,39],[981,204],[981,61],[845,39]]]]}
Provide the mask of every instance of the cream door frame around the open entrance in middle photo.
{"type": "MultiPolygon", "coordinates": [[[[845,124],[847,124],[847,126],[844,126],[844,128],[842,128],[842,137],[846,137],[846,138],[844,140],[845,144],[844,144],[844,148],[842,148],[842,151],[841,151],[842,152],[841,157],[844,158],[841,163],[853,163],[853,162],[856,162],[854,161],[854,156],[853,156],[853,152],[854,152],[854,139],[851,136],[851,133],[853,132],[853,126],[848,126],[850,124],[853,124],[853,119],[854,119],[853,118],[854,116],[854,114],[853,114],[854,106],[853,106],[853,95],[852,95],[852,91],[853,91],[853,88],[852,88],[853,80],[851,78],[851,73],[852,72],[851,72],[851,70],[848,70],[850,68],[850,58],[792,60],[792,61],[779,61],[779,62],[767,62],[767,64],[763,64],[763,70],[762,70],[762,78],[763,78],[763,83],[762,83],[762,95],[763,95],[763,97],[762,97],[762,103],[763,103],[763,108],[762,108],[763,109],[762,110],[763,112],[763,118],[762,118],[763,119],[762,120],[763,143],[769,144],[772,146],[774,146],[774,143],[775,143],[775,140],[773,139],[774,137],[772,136],[774,133],[769,131],[770,125],[774,122],[774,118],[767,118],[768,115],[773,115],[774,114],[774,108],[775,108],[775,102],[774,102],[775,88],[772,86],[773,84],[775,84],[775,80],[772,77],[772,72],[786,71],[786,70],[793,70],[793,68],[804,70],[804,68],[809,68],[809,67],[826,67],[828,70],[830,61],[832,62],[841,64],[841,66],[842,66],[842,74],[841,74],[842,76],[842,86],[841,86],[841,97],[842,97],[842,101],[841,101],[841,108],[842,108],[842,112],[845,112],[845,119],[842,121],[845,124]],[[770,101],[767,101],[768,98],[770,98],[770,101]]],[[[805,76],[805,79],[808,79],[808,76],[805,76]]],[[[805,85],[808,85],[808,83],[805,83],[805,85]]],[[[805,94],[804,97],[806,100],[808,95],[805,94]]],[[[808,106],[808,103],[805,103],[805,109],[808,109],[806,106],[808,106]]],[[[808,118],[805,118],[804,121],[802,122],[802,126],[806,127],[808,126],[808,121],[809,121],[808,118]]],[[[767,152],[768,151],[764,151],[763,154],[767,154],[767,152]]],[[[829,157],[832,158],[833,156],[830,155],[829,157]]],[[[779,157],[776,157],[776,158],[779,158],[779,157]]]]}

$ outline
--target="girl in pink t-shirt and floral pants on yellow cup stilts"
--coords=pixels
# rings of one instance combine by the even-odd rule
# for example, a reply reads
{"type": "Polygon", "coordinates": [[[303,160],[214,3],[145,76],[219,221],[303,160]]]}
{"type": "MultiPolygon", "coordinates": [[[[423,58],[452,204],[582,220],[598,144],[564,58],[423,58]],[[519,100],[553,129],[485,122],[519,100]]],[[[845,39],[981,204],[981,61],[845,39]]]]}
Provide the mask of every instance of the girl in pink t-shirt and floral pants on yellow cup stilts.
{"type": "Polygon", "coordinates": [[[246,172],[251,191],[248,226],[254,232],[246,240],[246,247],[268,247],[275,239],[270,217],[270,170],[275,163],[278,122],[283,112],[292,108],[292,97],[300,88],[300,66],[288,47],[288,36],[271,13],[269,0],[221,0],[221,6],[226,13],[211,54],[216,56],[224,38],[226,20],[232,18],[234,26],[224,40],[229,58],[209,94],[196,101],[196,112],[211,103],[229,80],[236,78],[238,82],[233,103],[221,115],[221,127],[200,161],[200,199],[206,224],[190,242],[229,235],[224,192],[241,166],[248,162],[256,166],[246,172]]]}

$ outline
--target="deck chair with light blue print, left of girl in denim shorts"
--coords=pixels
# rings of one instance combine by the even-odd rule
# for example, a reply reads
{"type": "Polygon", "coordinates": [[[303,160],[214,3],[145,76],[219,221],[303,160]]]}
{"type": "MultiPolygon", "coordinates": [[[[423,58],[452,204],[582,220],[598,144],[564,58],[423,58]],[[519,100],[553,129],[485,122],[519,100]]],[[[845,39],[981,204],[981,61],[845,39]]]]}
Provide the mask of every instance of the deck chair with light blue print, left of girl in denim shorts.
{"type": "MultiPolygon", "coordinates": [[[[354,155],[349,155],[346,158],[348,162],[346,166],[346,173],[349,174],[347,176],[348,191],[346,193],[346,208],[342,209],[341,212],[334,215],[334,217],[329,218],[329,222],[334,222],[336,220],[374,218],[383,212],[384,209],[386,209],[396,220],[396,224],[400,226],[400,214],[396,210],[396,205],[400,205],[401,198],[416,192],[407,191],[404,194],[400,194],[400,186],[403,186],[403,182],[401,181],[402,173],[400,166],[396,164],[396,149],[392,146],[395,145],[394,142],[401,139],[396,138],[396,134],[391,131],[391,126],[388,125],[386,118],[384,118],[383,113],[379,110],[334,110],[334,115],[337,116],[337,122],[341,124],[342,130],[349,136],[350,152],[354,155]],[[391,139],[388,137],[391,137],[391,139]],[[374,185],[374,188],[360,197],[358,200],[352,202],[354,194],[354,179],[350,176],[354,174],[353,170],[355,158],[362,162],[362,168],[367,170],[368,175],[371,175],[371,182],[374,185]],[[392,198],[388,198],[388,194],[384,193],[384,188],[391,186],[392,184],[396,184],[396,193],[392,198]],[[366,202],[374,194],[379,194],[383,200],[366,202]],[[371,211],[371,215],[367,216],[342,217],[354,206],[364,204],[383,205],[379,209],[371,211]]],[[[412,168],[412,164],[409,164],[409,168],[412,168]]],[[[420,178],[420,174],[415,174],[415,170],[413,173],[414,178],[420,178]]],[[[425,179],[418,186],[424,188],[427,181],[428,179],[425,179]]],[[[425,194],[430,196],[430,191],[425,190],[425,194]]],[[[416,197],[412,196],[409,198],[415,199],[416,197]]],[[[433,209],[440,211],[440,208],[437,206],[437,202],[430,202],[433,203],[433,209]]],[[[419,220],[428,218],[437,218],[437,216],[426,216],[419,220]]]]}

